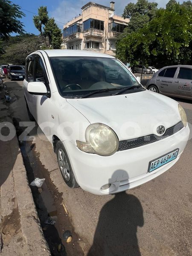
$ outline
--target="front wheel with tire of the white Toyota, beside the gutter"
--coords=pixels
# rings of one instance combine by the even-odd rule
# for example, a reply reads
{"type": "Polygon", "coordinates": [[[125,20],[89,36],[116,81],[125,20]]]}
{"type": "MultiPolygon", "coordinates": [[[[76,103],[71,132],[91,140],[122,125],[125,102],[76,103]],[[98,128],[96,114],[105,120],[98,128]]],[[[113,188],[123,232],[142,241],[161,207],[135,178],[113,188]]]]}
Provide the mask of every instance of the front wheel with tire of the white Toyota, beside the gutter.
{"type": "Polygon", "coordinates": [[[56,154],[58,160],[58,166],[63,176],[64,182],[70,188],[77,188],[79,184],[76,181],[75,175],[73,173],[67,151],[64,148],[63,143],[59,140],[56,144],[56,154]]]}

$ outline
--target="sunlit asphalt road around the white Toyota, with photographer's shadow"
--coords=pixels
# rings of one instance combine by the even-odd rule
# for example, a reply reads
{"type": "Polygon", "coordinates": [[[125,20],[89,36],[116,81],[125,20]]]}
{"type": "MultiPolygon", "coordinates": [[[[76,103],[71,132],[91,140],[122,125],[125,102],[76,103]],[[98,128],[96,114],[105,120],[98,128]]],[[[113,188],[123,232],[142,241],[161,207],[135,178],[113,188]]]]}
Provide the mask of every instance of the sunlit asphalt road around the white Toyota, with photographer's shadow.
{"type": "MultiPolygon", "coordinates": [[[[29,122],[21,84],[22,81],[6,82],[12,95],[10,109],[18,135],[23,131],[19,122],[29,122]]],[[[177,101],[192,124],[192,104],[177,101]]],[[[192,131],[191,125],[190,128],[192,131]]],[[[169,171],[126,193],[107,196],[68,188],[52,145],[40,128],[34,128],[29,135],[31,141],[27,143],[20,137],[29,182],[34,177],[45,177],[43,191],[34,196],[44,205],[39,207],[38,203],[38,208],[56,212],[59,225],[56,223],[53,231],[58,239],[64,230],[72,231],[72,242],[65,243],[67,255],[192,255],[192,134],[180,160],[169,171]],[[102,245],[105,251],[100,248],[102,245]]],[[[45,236],[49,239],[50,233],[45,236]]]]}

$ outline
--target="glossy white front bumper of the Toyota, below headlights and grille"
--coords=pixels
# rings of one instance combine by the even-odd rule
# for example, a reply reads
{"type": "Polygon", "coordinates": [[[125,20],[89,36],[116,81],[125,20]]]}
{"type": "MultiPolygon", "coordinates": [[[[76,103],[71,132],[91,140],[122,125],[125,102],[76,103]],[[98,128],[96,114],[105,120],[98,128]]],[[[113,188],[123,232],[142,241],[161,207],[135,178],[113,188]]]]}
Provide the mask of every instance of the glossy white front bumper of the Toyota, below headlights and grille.
{"type": "Polygon", "coordinates": [[[188,138],[189,127],[187,126],[158,142],[117,151],[108,157],[82,152],[70,141],[63,143],[79,186],[93,194],[106,195],[134,188],[166,172],[179,160],[188,138]],[[179,148],[179,154],[175,160],[148,173],[148,164],[151,160],[175,148],[179,148]],[[111,187],[105,191],[101,190],[101,187],[108,183],[112,184],[111,187]]]}

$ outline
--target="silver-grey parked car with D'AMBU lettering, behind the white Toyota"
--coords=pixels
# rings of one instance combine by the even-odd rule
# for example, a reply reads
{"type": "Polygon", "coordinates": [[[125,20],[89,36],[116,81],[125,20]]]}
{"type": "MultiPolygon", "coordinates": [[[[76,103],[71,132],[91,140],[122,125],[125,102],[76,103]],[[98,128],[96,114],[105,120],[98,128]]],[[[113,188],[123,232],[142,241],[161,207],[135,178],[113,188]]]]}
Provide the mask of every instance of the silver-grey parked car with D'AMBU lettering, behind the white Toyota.
{"type": "Polygon", "coordinates": [[[192,66],[163,67],[147,82],[146,88],[166,96],[192,99],[192,66]]]}

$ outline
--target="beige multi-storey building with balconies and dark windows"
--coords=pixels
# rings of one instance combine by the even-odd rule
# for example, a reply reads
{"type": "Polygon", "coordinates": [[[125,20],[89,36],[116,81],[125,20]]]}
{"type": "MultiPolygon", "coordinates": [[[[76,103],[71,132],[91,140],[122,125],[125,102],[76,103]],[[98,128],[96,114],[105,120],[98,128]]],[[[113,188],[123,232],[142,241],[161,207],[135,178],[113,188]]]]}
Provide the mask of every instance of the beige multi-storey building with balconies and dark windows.
{"type": "Polygon", "coordinates": [[[114,14],[114,2],[102,6],[89,2],[82,6],[82,14],[64,25],[65,49],[81,49],[115,55],[116,38],[128,25],[129,19],[114,14]]]}

